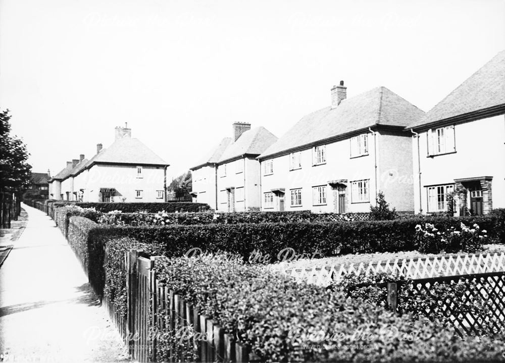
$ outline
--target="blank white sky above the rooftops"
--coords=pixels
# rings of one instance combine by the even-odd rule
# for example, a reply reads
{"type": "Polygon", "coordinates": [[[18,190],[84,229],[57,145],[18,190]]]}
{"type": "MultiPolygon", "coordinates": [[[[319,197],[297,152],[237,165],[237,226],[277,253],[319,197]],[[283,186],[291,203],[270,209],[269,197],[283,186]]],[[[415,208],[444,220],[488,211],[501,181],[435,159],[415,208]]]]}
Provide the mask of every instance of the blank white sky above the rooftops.
{"type": "Polygon", "coordinates": [[[0,0],[0,108],[34,172],[128,122],[177,176],[233,122],[282,136],[340,80],[428,111],[503,48],[503,0],[0,0]]]}

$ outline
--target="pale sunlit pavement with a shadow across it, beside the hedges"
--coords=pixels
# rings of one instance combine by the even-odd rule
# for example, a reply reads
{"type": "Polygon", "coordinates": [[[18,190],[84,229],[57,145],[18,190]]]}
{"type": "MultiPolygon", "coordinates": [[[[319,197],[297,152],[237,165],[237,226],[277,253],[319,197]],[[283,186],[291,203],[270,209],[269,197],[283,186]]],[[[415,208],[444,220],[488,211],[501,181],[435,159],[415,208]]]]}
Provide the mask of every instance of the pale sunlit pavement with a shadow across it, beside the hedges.
{"type": "Polygon", "coordinates": [[[23,208],[28,224],[0,268],[3,361],[128,361],[55,223],[30,206],[23,208]]]}

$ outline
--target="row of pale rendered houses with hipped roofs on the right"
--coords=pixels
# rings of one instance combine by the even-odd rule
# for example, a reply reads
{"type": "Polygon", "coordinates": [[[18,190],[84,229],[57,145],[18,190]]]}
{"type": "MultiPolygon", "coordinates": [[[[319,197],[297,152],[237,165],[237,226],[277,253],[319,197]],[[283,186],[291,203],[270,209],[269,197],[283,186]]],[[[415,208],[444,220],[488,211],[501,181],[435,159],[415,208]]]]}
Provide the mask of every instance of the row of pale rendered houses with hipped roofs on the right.
{"type": "Polygon", "coordinates": [[[193,201],[217,211],[487,214],[505,207],[505,51],[427,113],[386,87],[302,117],[282,137],[234,123],[192,167],[193,201]]]}

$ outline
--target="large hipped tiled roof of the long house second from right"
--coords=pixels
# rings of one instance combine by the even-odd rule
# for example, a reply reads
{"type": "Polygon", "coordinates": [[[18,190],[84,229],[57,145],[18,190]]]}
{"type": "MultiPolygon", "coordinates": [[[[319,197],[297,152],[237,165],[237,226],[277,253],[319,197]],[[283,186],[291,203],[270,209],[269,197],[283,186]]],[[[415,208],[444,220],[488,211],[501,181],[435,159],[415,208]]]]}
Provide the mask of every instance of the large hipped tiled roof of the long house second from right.
{"type": "Polygon", "coordinates": [[[375,125],[407,126],[422,116],[424,112],[412,103],[377,87],[303,117],[260,158],[375,125]]]}

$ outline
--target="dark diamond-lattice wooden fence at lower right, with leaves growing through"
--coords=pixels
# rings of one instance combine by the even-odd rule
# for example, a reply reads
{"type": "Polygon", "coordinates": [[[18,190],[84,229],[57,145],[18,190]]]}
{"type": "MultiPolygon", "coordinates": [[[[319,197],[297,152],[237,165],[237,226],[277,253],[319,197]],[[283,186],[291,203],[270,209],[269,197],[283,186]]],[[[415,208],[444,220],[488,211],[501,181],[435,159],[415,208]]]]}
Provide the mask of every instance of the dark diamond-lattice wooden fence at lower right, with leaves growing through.
{"type": "Polygon", "coordinates": [[[462,337],[505,332],[505,272],[403,280],[375,286],[387,290],[385,303],[394,312],[410,311],[448,321],[462,337]],[[456,288],[457,284],[462,286],[456,288]],[[443,298],[432,295],[433,290],[440,288],[451,293],[443,298]]]}

